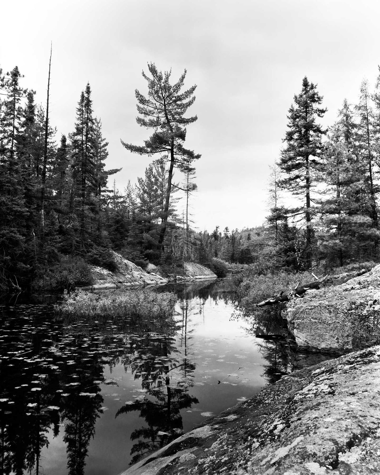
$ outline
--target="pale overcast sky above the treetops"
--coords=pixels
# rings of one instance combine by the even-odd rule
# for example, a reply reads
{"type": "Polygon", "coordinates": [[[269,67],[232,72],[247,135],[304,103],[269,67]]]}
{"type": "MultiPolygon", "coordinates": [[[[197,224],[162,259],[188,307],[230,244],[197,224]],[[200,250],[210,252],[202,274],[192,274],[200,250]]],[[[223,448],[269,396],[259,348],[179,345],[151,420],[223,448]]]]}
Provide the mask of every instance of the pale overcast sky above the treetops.
{"type": "Polygon", "coordinates": [[[58,142],[73,131],[90,83],[109,142],[106,167],[123,167],[114,175],[119,190],[152,160],[120,143],[150,134],[135,121],[134,90],[147,92],[142,70],[148,62],[171,68],[174,82],[187,69],[185,86],[198,86],[188,111],[198,121],[185,145],[202,154],[192,199],[199,230],[264,222],[268,167],[304,76],[318,84],[330,125],[345,97],[357,101],[363,77],[372,86],[379,72],[375,0],[29,0],[2,2],[0,14],[0,66],[19,66],[38,103],[46,102],[53,43],[49,119],[58,142]]]}

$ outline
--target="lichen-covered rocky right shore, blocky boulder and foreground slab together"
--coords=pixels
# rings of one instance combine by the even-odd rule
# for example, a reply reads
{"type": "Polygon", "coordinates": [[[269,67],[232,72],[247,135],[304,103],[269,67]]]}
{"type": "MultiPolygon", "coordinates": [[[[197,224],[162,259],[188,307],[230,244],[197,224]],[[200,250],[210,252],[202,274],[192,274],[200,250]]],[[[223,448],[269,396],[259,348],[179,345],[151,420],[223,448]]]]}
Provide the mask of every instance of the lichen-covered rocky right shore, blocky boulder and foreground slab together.
{"type": "Polygon", "coordinates": [[[380,473],[380,265],[308,291],[283,315],[299,350],[346,354],[281,378],[121,475],[380,473]]]}

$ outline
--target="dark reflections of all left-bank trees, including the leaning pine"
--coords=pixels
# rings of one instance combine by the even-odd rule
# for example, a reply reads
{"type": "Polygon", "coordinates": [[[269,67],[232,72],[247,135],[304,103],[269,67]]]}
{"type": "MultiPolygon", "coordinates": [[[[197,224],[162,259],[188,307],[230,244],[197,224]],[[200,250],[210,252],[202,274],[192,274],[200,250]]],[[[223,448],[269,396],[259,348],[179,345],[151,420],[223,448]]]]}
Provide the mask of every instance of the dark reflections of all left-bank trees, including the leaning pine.
{"type": "Polygon", "coordinates": [[[133,401],[115,417],[139,411],[146,427],[132,432],[131,455],[148,451],[178,437],[181,409],[198,399],[189,393],[195,363],[191,360],[188,329],[189,302],[182,301],[182,321],[133,319],[70,319],[55,321],[44,305],[3,309],[0,352],[0,473],[39,473],[47,433],[64,431],[67,469],[85,473],[90,440],[103,406],[101,384],[118,364],[141,383],[133,401]],[[180,345],[175,336],[180,333],[180,345]]]}

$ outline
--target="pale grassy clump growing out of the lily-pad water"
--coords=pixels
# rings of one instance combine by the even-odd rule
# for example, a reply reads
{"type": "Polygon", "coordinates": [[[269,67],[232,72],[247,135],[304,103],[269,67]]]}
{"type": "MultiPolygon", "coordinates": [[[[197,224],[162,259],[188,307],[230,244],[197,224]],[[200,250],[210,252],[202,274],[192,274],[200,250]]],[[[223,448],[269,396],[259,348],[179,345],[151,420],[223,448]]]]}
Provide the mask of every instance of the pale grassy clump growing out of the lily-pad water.
{"type": "Polygon", "coordinates": [[[62,303],[55,308],[62,316],[99,317],[151,317],[171,318],[177,296],[171,292],[157,294],[143,290],[110,290],[106,293],[92,294],[76,290],[64,293],[62,303]]]}

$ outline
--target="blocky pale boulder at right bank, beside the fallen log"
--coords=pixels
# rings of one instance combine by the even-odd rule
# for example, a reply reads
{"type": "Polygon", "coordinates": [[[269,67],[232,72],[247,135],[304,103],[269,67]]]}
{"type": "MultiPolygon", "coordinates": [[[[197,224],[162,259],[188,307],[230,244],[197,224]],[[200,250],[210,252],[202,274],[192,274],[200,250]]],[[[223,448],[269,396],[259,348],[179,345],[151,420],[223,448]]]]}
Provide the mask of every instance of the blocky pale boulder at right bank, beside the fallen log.
{"type": "Polygon", "coordinates": [[[346,283],[307,291],[283,316],[298,349],[338,352],[380,341],[380,265],[346,283]]]}

